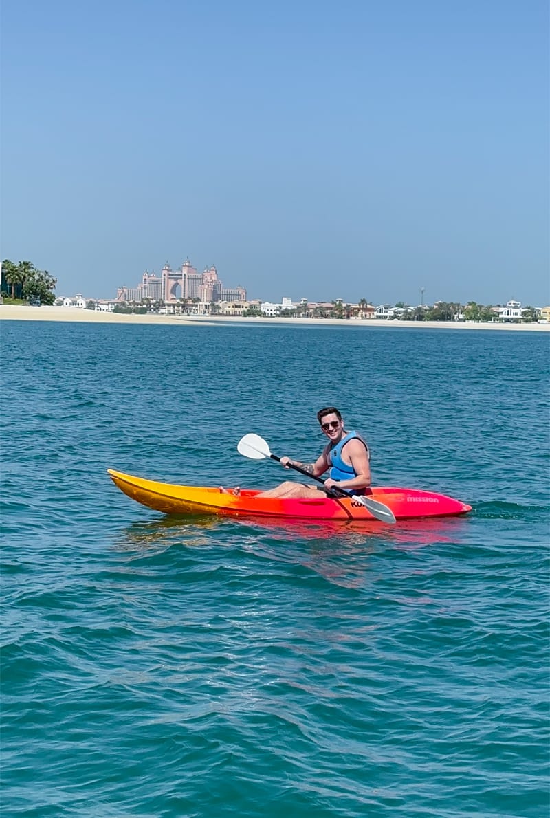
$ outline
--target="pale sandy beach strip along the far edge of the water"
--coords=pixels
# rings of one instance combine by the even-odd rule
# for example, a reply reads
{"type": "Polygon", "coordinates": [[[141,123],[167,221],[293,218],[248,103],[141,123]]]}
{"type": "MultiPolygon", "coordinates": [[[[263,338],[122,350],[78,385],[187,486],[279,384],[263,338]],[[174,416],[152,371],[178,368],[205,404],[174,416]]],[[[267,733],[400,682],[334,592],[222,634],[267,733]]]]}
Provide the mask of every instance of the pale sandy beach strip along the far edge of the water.
{"type": "Polygon", "coordinates": [[[262,324],[264,326],[363,326],[374,330],[381,327],[445,330],[512,330],[520,332],[548,332],[550,324],[489,324],[459,321],[387,321],[376,318],[245,318],[229,315],[170,316],[157,314],[127,314],[124,312],[96,312],[72,307],[28,307],[18,304],[0,304],[0,321],[74,321],[98,324],[151,324],[192,326],[224,326],[235,324],[262,324]]]}

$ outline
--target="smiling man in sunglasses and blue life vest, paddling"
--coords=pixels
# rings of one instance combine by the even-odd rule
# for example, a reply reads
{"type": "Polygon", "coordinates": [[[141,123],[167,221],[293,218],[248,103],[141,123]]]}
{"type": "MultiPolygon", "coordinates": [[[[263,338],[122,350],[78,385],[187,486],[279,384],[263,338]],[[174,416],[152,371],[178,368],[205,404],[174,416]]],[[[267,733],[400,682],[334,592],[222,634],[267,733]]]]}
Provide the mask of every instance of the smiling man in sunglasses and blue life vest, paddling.
{"type": "MultiPolygon", "coordinates": [[[[354,494],[364,494],[371,484],[371,468],[369,465],[370,453],[367,443],[355,432],[346,432],[340,411],[336,407],[326,407],[317,413],[319,425],[323,434],[328,438],[327,446],[321,456],[314,463],[300,463],[290,457],[282,457],[281,463],[288,468],[288,464],[299,465],[309,474],[320,477],[328,469],[330,476],[325,481],[324,488],[345,488],[354,494]]],[[[316,488],[303,483],[285,483],[268,492],[261,492],[258,497],[319,497],[319,492],[325,493],[322,487],[316,488]]]]}

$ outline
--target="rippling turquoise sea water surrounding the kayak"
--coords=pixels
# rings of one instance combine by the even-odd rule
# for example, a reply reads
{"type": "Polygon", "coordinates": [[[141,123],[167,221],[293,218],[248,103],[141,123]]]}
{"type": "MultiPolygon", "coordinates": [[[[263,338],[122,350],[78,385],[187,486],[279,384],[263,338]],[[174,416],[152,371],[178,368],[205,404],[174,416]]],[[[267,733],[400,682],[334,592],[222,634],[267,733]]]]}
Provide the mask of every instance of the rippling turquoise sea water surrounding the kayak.
{"type": "MultiPolygon", "coordinates": [[[[2,816],[548,816],[548,336],[2,322],[2,816]],[[170,519],[336,403],[464,518],[170,519]]],[[[300,476],[297,475],[297,479],[300,476]]]]}

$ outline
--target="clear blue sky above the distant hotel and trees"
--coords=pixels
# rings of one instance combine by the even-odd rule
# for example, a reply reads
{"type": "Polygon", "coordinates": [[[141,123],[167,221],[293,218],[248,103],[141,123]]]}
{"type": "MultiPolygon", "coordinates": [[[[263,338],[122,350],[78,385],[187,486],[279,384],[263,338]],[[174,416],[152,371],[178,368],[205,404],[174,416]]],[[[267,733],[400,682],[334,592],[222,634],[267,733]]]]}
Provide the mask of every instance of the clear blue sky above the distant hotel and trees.
{"type": "Polygon", "coordinates": [[[2,258],[550,303],[547,0],[3,0],[2,258]]]}

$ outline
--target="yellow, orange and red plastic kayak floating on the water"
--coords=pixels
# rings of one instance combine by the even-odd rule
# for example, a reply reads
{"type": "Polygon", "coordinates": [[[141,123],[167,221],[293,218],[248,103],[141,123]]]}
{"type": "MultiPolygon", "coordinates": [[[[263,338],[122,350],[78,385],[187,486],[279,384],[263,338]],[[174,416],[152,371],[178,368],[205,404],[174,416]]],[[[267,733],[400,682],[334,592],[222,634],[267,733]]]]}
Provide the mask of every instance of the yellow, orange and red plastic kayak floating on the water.
{"type": "MultiPolygon", "coordinates": [[[[353,497],[282,498],[259,497],[261,492],[241,489],[238,495],[222,492],[220,488],[178,486],[158,483],[107,470],[121,492],[132,500],[165,514],[216,514],[285,517],[294,519],[374,520],[365,506],[353,497]]],[[[372,488],[369,499],[380,501],[393,511],[395,519],[450,517],[466,514],[471,506],[453,497],[415,488],[372,488]]]]}

